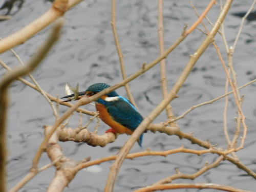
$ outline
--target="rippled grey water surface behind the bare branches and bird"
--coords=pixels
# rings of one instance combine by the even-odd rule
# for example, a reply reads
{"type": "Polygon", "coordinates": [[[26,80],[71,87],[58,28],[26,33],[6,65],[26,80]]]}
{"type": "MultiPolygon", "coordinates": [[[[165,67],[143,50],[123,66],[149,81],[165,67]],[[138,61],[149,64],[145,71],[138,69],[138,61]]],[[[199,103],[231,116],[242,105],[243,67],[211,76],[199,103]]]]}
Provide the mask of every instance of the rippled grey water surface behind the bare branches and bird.
{"type": "MultiPolygon", "coordinates": [[[[10,13],[11,20],[0,22],[0,36],[6,37],[18,29],[24,27],[42,13],[46,12],[52,3],[50,1],[6,1],[9,9],[3,8],[0,14],[10,13]]],[[[194,1],[199,13],[202,13],[208,1],[194,1]]],[[[235,1],[225,20],[225,30],[229,46],[233,45],[234,38],[239,30],[241,15],[249,9],[251,1],[235,1]]],[[[4,5],[4,1],[0,1],[4,5]]],[[[219,5],[212,8],[208,14],[212,22],[219,14],[219,5]]],[[[142,67],[142,63],[149,63],[159,55],[157,33],[157,1],[118,1],[117,2],[117,29],[120,43],[126,63],[127,75],[131,75],[142,67]]],[[[50,52],[48,57],[41,63],[33,75],[42,89],[52,95],[65,95],[64,86],[69,82],[73,86],[79,82],[80,90],[86,89],[95,82],[115,84],[121,77],[119,60],[116,53],[111,22],[110,1],[83,1],[77,7],[66,13],[66,25],[62,36],[50,52]]],[[[180,36],[186,23],[193,24],[197,17],[187,1],[164,2],[164,27],[165,47],[168,48],[180,36]]],[[[205,22],[207,23],[207,22],[205,22]]],[[[255,27],[253,19],[246,21],[238,47],[234,53],[234,68],[238,73],[239,86],[256,77],[255,68],[255,27]]],[[[202,29],[202,26],[200,26],[202,29]]],[[[210,28],[210,27],[209,27],[210,28]]],[[[50,27],[42,30],[24,45],[17,46],[14,50],[26,62],[35,52],[41,42],[49,33],[50,27]]],[[[189,55],[193,54],[205,35],[194,31],[185,41],[171,53],[167,62],[168,88],[173,84],[184,69],[189,55]]],[[[220,47],[225,62],[227,56],[220,35],[216,42],[220,47]]],[[[18,65],[16,58],[6,52],[1,59],[10,67],[18,65]]],[[[0,67],[0,74],[5,69],[0,67]]],[[[25,77],[28,79],[27,77],[25,77]]],[[[196,63],[193,72],[185,82],[185,86],[179,92],[179,98],[172,105],[175,115],[181,115],[190,106],[208,101],[224,93],[225,73],[216,50],[209,46],[204,55],[196,63]]],[[[152,111],[161,101],[160,69],[154,67],[147,73],[130,83],[135,100],[143,116],[152,111]]],[[[125,96],[123,88],[117,90],[125,96]]],[[[250,169],[256,169],[255,157],[255,84],[241,90],[245,95],[243,110],[247,118],[248,135],[243,151],[238,152],[240,160],[250,169]]],[[[236,122],[234,117],[236,107],[233,97],[230,97],[228,107],[228,129],[230,135],[234,134],[236,122]]],[[[91,105],[84,106],[94,110],[91,105]]],[[[63,114],[68,108],[60,107],[63,114]]],[[[194,132],[195,137],[206,140],[212,144],[226,147],[223,134],[223,109],[224,99],[214,104],[202,106],[184,119],[178,121],[181,130],[185,133],[194,132]]],[[[79,115],[75,114],[70,122],[71,127],[78,125],[79,115]]],[[[90,117],[84,117],[86,123],[90,117]]],[[[166,120],[163,112],[154,122],[166,120]]],[[[10,89],[10,110],[8,120],[8,185],[13,187],[22,179],[31,166],[38,146],[44,138],[42,126],[53,124],[54,116],[46,100],[37,92],[16,81],[10,89]]],[[[89,130],[94,131],[95,123],[89,130]]],[[[108,126],[101,123],[99,134],[103,134],[108,126]]],[[[80,160],[91,156],[97,159],[117,153],[116,147],[121,147],[129,136],[121,135],[118,139],[104,148],[91,147],[85,143],[65,142],[61,143],[63,153],[72,159],[80,160]]],[[[191,145],[190,142],[180,140],[176,136],[167,136],[161,133],[147,133],[144,137],[143,150],[150,147],[151,150],[163,151],[184,145],[189,148],[202,149],[191,145]]],[[[141,151],[135,145],[132,152],[141,151]]],[[[136,188],[151,185],[158,180],[175,174],[175,167],[182,173],[193,174],[200,169],[206,161],[214,162],[217,155],[207,154],[198,157],[191,154],[174,154],[164,157],[142,157],[134,160],[126,160],[120,170],[115,191],[132,191],[136,188]]],[[[39,167],[49,163],[48,156],[44,154],[39,167]]],[[[91,170],[80,171],[65,191],[103,191],[106,178],[112,162],[102,163],[91,170]]],[[[51,167],[45,172],[38,174],[32,181],[27,183],[20,191],[45,191],[54,177],[55,168],[51,167]]],[[[244,190],[254,191],[255,180],[243,170],[238,169],[228,161],[224,161],[215,169],[211,169],[195,181],[175,180],[174,183],[202,183],[212,182],[230,185],[244,190]]],[[[179,191],[197,191],[184,189],[179,191]]],[[[207,191],[216,191],[210,190],[207,191]]]]}

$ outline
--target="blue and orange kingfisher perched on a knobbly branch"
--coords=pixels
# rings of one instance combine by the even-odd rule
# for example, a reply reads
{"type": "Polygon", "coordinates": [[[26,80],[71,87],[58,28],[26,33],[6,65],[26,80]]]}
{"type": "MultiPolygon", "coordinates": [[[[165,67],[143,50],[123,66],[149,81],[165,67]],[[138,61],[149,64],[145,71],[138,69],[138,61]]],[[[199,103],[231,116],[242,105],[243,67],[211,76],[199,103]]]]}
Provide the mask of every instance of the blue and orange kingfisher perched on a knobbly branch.
{"type": "MultiPolygon", "coordinates": [[[[75,97],[78,100],[82,96],[91,97],[109,87],[111,86],[106,83],[95,83],[92,84],[86,91],[67,95],[62,98],[75,97]]],[[[71,100],[72,99],[68,99],[62,102],[71,100]]],[[[126,98],[119,96],[116,91],[100,97],[95,101],[95,105],[96,110],[99,112],[100,119],[111,127],[111,129],[106,131],[106,133],[113,132],[118,134],[126,133],[127,135],[132,135],[135,129],[143,121],[143,117],[140,115],[135,106],[126,98]]],[[[138,143],[141,148],[142,140],[143,134],[138,139],[138,143]]]]}

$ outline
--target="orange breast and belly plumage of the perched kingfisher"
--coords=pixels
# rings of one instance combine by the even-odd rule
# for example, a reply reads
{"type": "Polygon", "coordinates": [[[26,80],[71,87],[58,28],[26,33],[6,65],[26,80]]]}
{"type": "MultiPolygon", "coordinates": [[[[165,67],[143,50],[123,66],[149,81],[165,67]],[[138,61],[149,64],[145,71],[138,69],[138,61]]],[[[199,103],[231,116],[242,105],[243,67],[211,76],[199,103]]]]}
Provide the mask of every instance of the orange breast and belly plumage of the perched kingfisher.
{"type": "Polygon", "coordinates": [[[132,135],[133,131],[127,129],[125,126],[121,125],[120,123],[114,121],[114,119],[110,116],[108,111],[106,110],[105,106],[100,103],[96,103],[96,110],[99,112],[99,117],[102,121],[112,127],[119,134],[128,134],[132,135]]]}

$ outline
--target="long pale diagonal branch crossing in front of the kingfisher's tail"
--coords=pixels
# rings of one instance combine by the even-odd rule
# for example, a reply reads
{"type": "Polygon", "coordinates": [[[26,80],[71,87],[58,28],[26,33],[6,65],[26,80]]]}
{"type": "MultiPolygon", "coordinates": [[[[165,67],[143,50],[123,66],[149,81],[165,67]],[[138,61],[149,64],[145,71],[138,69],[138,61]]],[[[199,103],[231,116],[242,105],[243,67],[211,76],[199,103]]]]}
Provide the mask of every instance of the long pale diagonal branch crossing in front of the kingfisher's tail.
{"type": "MultiPolygon", "coordinates": [[[[164,99],[157,106],[157,108],[155,110],[153,110],[150,113],[150,115],[148,115],[141,122],[141,124],[137,127],[137,129],[135,130],[133,135],[130,137],[130,139],[125,143],[125,145],[122,148],[122,151],[118,154],[118,158],[116,159],[116,161],[111,166],[111,172],[110,172],[108,181],[107,181],[106,186],[105,186],[105,191],[113,191],[114,190],[114,184],[115,184],[115,181],[116,181],[116,178],[117,178],[117,174],[119,172],[120,166],[122,165],[124,157],[130,152],[130,150],[131,150],[132,146],[134,145],[134,143],[137,141],[137,139],[140,137],[140,135],[146,130],[146,127],[164,110],[166,105],[177,96],[178,91],[180,90],[180,88],[182,87],[183,83],[185,82],[188,74],[193,69],[196,61],[200,58],[200,56],[204,53],[206,48],[211,44],[212,40],[214,39],[214,36],[218,32],[218,30],[219,30],[219,28],[221,26],[221,23],[223,22],[226,14],[227,14],[230,6],[231,6],[231,3],[232,3],[231,0],[226,1],[225,5],[224,5],[224,8],[223,8],[221,14],[219,15],[219,17],[218,17],[214,27],[212,28],[211,32],[206,37],[206,39],[204,40],[202,45],[199,47],[197,52],[193,56],[190,57],[190,60],[187,63],[186,68],[184,69],[184,71],[180,75],[179,79],[175,83],[172,91],[170,91],[170,93],[168,94],[167,98],[164,99]]],[[[212,1],[210,2],[210,4],[212,4],[212,1]]],[[[209,10],[208,7],[207,7],[207,10],[209,10]]],[[[197,26],[195,26],[195,28],[196,27],[197,26]]],[[[191,32],[191,28],[189,29],[189,32],[188,31],[186,32],[186,34],[189,34],[190,32],[191,32]]]]}

